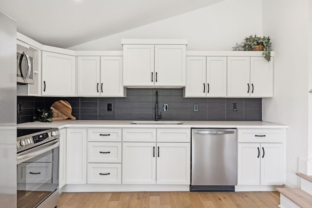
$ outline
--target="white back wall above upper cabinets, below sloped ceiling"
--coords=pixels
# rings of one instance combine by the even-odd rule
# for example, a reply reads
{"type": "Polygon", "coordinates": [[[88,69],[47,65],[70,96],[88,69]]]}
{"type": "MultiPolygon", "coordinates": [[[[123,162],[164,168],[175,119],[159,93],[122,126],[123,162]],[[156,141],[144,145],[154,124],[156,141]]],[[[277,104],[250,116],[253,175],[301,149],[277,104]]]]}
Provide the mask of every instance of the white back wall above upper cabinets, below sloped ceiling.
{"type": "Polygon", "coordinates": [[[122,50],[122,38],[186,38],[187,50],[232,50],[245,37],[262,35],[262,0],[225,0],[170,19],[69,49],[122,50]]]}

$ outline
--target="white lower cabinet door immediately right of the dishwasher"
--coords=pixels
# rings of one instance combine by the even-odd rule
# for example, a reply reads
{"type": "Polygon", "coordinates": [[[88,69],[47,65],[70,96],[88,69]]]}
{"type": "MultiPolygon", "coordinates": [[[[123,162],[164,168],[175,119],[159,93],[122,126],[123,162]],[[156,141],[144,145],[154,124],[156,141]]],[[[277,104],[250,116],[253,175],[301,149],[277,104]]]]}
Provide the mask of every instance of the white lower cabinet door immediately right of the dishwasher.
{"type": "Polygon", "coordinates": [[[237,185],[260,185],[260,144],[238,143],[237,185]]]}

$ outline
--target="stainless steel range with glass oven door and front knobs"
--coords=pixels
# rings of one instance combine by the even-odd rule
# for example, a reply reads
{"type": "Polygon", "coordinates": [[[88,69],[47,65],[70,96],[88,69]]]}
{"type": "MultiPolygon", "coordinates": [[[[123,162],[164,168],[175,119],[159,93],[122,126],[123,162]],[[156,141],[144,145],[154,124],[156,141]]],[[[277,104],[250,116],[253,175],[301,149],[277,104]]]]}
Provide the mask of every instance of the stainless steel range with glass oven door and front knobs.
{"type": "Polygon", "coordinates": [[[59,129],[18,129],[17,207],[59,203],[59,129]]]}

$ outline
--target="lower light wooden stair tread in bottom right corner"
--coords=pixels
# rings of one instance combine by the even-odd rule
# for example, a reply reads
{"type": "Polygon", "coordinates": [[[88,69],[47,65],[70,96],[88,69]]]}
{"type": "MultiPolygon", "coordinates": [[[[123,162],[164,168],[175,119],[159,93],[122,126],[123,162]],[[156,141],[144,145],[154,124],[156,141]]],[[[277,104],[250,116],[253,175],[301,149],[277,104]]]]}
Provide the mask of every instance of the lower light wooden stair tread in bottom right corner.
{"type": "Polygon", "coordinates": [[[311,208],[312,195],[301,189],[278,188],[278,192],[286,196],[301,208],[311,208]]]}

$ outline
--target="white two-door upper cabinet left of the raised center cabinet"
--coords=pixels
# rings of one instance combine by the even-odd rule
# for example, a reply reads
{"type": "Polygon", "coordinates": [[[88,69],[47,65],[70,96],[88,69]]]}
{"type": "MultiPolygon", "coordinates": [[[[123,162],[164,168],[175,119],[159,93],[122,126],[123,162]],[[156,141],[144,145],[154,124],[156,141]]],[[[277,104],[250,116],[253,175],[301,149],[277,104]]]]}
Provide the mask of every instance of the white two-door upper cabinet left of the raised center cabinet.
{"type": "Polygon", "coordinates": [[[78,96],[124,96],[122,57],[78,57],[78,96]]]}

